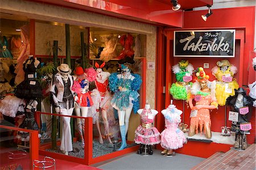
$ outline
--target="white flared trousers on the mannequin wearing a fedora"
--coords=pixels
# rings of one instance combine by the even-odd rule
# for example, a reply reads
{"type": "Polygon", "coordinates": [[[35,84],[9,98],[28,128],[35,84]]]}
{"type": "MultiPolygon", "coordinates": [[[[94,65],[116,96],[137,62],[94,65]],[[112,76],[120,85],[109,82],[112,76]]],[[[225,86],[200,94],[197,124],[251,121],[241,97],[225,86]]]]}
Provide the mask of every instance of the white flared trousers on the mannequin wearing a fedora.
{"type": "MultiPolygon", "coordinates": [[[[63,109],[63,111],[60,113],[62,115],[72,115],[73,108],[72,109],[63,109]]],[[[73,150],[72,147],[72,136],[71,136],[71,126],[70,126],[70,118],[69,117],[62,117],[63,120],[63,130],[61,135],[61,144],[60,144],[60,150],[65,152],[65,155],[68,155],[69,151],[73,150]]]]}

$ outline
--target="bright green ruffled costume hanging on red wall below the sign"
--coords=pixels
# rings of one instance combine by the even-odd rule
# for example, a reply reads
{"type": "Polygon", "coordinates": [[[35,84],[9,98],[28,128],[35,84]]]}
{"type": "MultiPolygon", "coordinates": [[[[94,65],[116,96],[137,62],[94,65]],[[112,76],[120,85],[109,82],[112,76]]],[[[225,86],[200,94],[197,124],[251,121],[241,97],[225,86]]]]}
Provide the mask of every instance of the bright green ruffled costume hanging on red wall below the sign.
{"type": "Polygon", "coordinates": [[[174,99],[187,101],[190,98],[193,70],[193,65],[189,64],[188,60],[181,60],[179,64],[172,67],[177,80],[170,88],[170,93],[174,99]]]}

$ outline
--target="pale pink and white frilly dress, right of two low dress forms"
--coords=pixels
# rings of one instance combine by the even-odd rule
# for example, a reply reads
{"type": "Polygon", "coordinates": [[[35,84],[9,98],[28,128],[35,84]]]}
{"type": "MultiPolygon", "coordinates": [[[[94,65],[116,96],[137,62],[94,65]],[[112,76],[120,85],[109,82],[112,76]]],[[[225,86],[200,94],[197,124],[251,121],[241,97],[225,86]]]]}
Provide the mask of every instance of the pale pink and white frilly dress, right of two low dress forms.
{"type": "Polygon", "coordinates": [[[166,129],[161,133],[161,146],[167,150],[176,150],[183,147],[187,139],[179,128],[182,111],[178,110],[174,105],[170,105],[167,107],[166,113],[162,112],[162,114],[165,118],[166,129]]]}

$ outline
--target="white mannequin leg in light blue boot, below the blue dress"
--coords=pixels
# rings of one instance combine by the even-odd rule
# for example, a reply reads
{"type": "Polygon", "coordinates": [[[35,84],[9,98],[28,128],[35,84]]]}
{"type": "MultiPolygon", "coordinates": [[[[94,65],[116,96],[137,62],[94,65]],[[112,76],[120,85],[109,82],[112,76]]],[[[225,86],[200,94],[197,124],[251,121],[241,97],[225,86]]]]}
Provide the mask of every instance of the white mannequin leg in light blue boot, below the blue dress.
{"type": "Polygon", "coordinates": [[[120,133],[122,138],[121,147],[118,149],[118,151],[123,150],[126,148],[126,133],[125,133],[125,110],[118,110],[118,118],[119,118],[119,127],[120,127],[120,133]]]}

